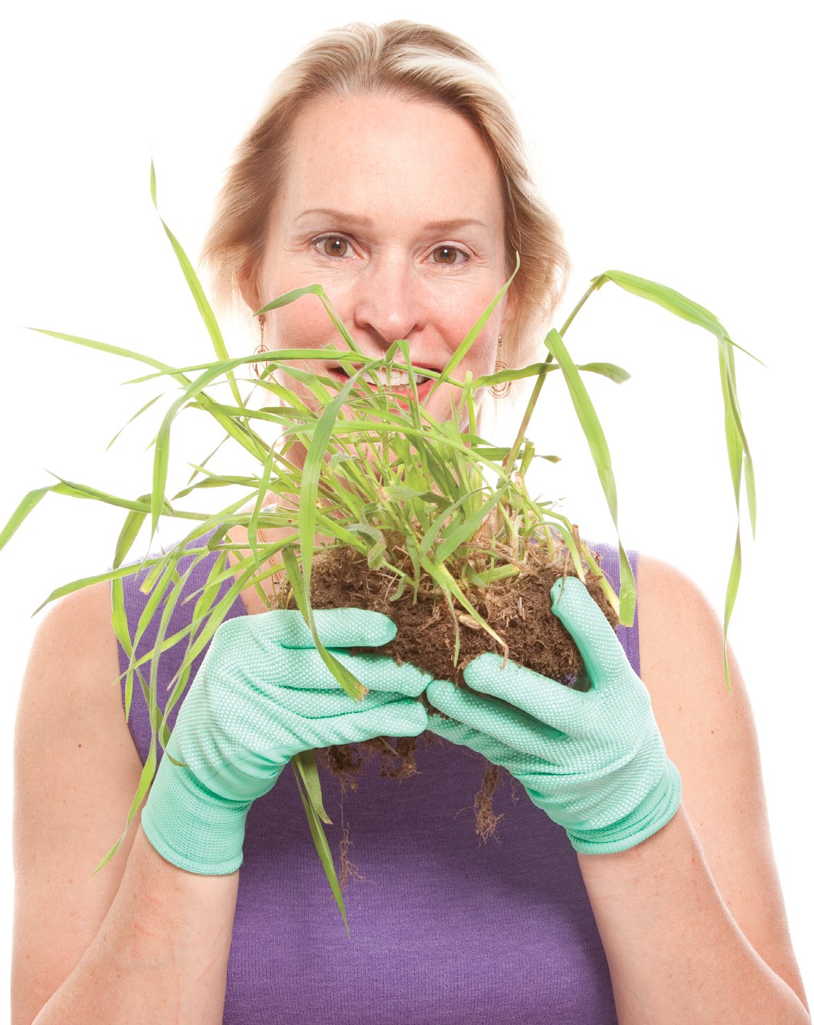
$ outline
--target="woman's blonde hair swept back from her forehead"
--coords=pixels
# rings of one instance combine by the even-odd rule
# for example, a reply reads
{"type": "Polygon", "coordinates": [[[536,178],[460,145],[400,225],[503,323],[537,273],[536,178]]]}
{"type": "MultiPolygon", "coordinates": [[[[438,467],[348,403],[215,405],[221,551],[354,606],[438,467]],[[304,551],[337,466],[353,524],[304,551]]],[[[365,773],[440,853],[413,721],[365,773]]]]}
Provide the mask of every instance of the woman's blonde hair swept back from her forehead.
{"type": "Polygon", "coordinates": [[[570,270],[562,233],[537,192],[517,120],[491,67],[451,33],[413,22],[336,29],[310,43],[276,78],[238,147],[204,242],[202,260],[211,270],[216,301],[232,304],[242,283],[254,284],[300,111],[317,96],[359,93],[440,104],[481,134],[502,181],[507,278],[520,253],[504,360],[509,366],[532,362],[538,331],[550,321],[570,270]]]}

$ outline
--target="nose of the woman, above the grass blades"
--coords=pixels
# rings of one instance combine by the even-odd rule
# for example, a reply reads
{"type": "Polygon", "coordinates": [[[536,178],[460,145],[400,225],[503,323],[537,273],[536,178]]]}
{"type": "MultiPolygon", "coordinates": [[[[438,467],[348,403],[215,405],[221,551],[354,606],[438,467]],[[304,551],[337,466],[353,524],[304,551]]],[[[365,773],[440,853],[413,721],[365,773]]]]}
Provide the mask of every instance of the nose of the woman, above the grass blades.
{"type": "Polygon", "coordinates": [[[365,269],[355,282],[353,320],[387,344],[426,325],[424,287],[411,261],[389,255],[365,269]]]}

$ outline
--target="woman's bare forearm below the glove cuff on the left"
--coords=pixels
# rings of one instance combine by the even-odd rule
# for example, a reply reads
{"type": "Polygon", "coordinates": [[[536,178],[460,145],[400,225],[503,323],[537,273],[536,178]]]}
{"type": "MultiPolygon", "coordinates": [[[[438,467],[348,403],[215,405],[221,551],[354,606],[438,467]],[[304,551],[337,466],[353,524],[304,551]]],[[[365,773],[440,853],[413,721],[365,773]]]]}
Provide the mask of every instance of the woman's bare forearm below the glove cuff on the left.
{"type": "Polygon", "coordinates": [[[238,872],[176,868],[139,827],[101,929],[35,1025],[220,1025],[237,896],[238,872]]]}

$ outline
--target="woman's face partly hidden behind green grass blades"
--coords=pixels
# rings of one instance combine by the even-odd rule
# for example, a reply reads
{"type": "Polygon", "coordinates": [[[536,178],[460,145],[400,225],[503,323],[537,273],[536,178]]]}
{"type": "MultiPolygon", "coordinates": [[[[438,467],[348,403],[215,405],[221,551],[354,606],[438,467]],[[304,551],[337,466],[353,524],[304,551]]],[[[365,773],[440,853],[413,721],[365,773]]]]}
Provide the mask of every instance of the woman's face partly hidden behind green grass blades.
{"type": "MultiPolygon", "coordinates": [[[[244,296],[257,310],[318,282],[365,355],[404,338],[414,365],[440,370],[505,283],[506,265],[500,177],[468,121],[423,101],[330,96],[294,125],[256,292],[247,286],[244,296]]],[[[496,309],[458,380],[494,369],[510,303],[496,309]]],[[[267,314],[265,338],[269,348],[346,347],[313,295],[267,314]]],[[[300,365],[344,379],[336,361],[300,365]]],[[[448,417],[451,392],[460,395],[438,388],[428,412],[448,417]]]]}

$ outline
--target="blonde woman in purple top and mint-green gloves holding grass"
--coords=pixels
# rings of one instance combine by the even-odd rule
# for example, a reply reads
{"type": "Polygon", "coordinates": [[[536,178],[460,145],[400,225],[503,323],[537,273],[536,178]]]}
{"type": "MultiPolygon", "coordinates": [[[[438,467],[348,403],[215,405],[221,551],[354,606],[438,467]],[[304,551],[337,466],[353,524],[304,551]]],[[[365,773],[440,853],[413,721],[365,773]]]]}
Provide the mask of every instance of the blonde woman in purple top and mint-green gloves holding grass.
{"type": "MultiPolygon", "coordinates": [[[[527,362],[567,260],[480,58],[396,23],[332,34],[283,76],[239,153],[207,255],[221,292],[238,288],[249,311],[319,280],[363,352],[406,338],[416,364],[439,367],[515,249],[520,274],[462,368],[475,374],[492,368],[501,337],[506,363],[527,362]]],[[[262,330],[269,347],[333,339],[310,298],[262,330]]],[[[443,415],[446,396],[433,403],[443,415]]],[[[94,877],[135,791],[143,731],[128,729],[120,694],[102,686],[121,671],[109,589],[72,596],[40,628],[20,702],[15,1021],[345,1021],[355,1002],[357,1021],[809,1022],[737,667],[729,695],[719,624],[688,580],[642,557],[637,584],[643,684],[606,634],[593,636],[595,623],[586,627],[589,606],[560,610],[594,692],[625,698],[591,724],[613,764],[591,762],[591,779],[580,778],[592,744],[558,723],[568,752],[554,783],[576,779],[579,792],[563,796],[539,763],[531,780],[527,760],[513,762],[530,801],[508,809],[504,849],[475,847],[471,822],[465,845],[453,816],[482,765],[473,751],[505,747],[503,726],[520,723],[512,697],[534,743],[551,734],[524,707],[525,678],[499,694],[505,720],[486,724],[489,699],[475,693],[464,708],[442,683],[377,662],[386,627],[336,610],[333,644],[371,646],[372,658],[347,656],[378,682],[357,708],[330,681],[303,675],[318,665],[292,639],[295,621],[256,616],[265,606],[248,588],[178,720],[188,772],[162,762],[143,826],[94,877]],[[252,685],[272,660],[273,693],[258,699],[252,685]],[[240,693],[235,665],[249,685],[240,693]],[[452,709],[451,725],[427,715],[422,692],[452,709]],[[230,732],[224,694],[240,702],[230,732]],[[350,943],[301,815],[291,817],[298,798],[283,769],[304,724],[325,729],[326,745],[425,729],[452,741],[436,763],[427,752],[424,789],[370,780],[366,808],[389,815],[366,834],[380,860],[359,860],[384,871],[346,895],[350,943]],[[225,767],[210,756],[223,743],[225,767]],[[608,809],[645,777],[652,785],[610,817],[625,826],[609,837],[608,809]],[[580,823],[569,818],[577,804],[592,806],[580,823]]],[[[486,669],[476,689],[498,693],[486,669]]]]}

